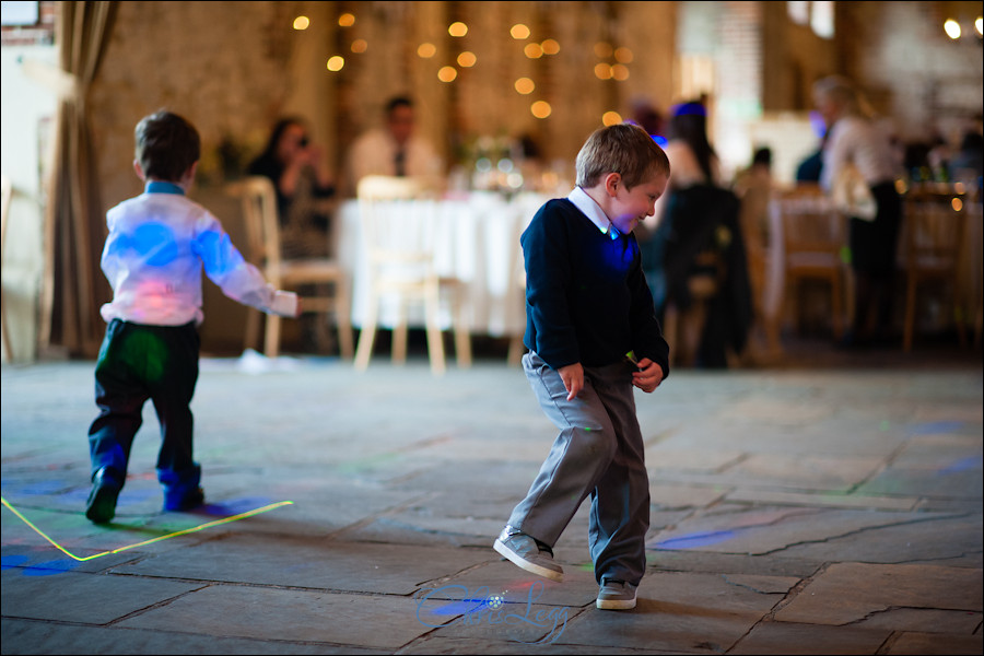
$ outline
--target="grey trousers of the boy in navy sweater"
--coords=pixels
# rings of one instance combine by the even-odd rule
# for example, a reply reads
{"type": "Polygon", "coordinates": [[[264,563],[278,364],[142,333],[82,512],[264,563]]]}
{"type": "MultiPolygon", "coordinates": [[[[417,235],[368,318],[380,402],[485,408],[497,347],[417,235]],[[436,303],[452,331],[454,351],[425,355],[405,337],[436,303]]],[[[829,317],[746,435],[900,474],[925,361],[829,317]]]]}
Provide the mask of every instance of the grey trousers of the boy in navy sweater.
{"type": "Polygon", "coordinates": [[[524,355],[523,368],[560,433],[509,525],[553,547],[590,495],[595,578],[639,585],[646,569],[649,480],[632,365],[585,367],[584,389],[572,401],[560,374],[539,355],[524,355]]]}

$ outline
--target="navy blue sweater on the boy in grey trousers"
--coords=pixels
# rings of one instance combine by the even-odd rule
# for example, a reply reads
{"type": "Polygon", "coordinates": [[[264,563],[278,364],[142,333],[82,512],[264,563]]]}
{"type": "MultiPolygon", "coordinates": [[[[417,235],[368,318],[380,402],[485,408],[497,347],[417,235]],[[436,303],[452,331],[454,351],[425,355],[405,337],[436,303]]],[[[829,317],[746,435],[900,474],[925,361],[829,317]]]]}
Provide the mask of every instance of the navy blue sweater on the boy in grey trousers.
{"type": "Polygon", "coordinates": [[[669,347],[634,235],[612,239],[562,198],[543,204],[519,241],[526,348],[554,370],[613,364],[635,351],[669,375],[669,347]]]}

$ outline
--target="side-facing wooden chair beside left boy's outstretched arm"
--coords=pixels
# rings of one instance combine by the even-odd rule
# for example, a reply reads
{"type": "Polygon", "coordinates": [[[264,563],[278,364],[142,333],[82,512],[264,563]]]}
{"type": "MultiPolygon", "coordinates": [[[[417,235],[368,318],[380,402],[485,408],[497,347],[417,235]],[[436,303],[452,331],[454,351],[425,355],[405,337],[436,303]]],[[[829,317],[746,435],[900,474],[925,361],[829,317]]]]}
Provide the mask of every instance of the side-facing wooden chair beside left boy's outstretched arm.
{"type": "MultiPolygon", "coordinates": [[[[241,199],[243,219],[246,222],[249,260],[267,280],[282,290],[298,290],[318,285],[325,294],[302,295],[303,313],[335,314],[338,327],[339,351],[342,358],[352,358],[352,324],[349,280],[344,270],[332,258],[311,257],[284,259],[281,254],[280,218],[277,211],[277,190],[263,176],[250,176],[232,183],[226,191],[241,199]]],[[[327,237],[326,237],[327,238],[327,237]]],[[[249,308],[246,323],[246,348],[258,341],[259,311],[249,308]]],[[[263,335],[263,354],[276,358],[280,353],[280,317],[267,315],[263,335]]]]}

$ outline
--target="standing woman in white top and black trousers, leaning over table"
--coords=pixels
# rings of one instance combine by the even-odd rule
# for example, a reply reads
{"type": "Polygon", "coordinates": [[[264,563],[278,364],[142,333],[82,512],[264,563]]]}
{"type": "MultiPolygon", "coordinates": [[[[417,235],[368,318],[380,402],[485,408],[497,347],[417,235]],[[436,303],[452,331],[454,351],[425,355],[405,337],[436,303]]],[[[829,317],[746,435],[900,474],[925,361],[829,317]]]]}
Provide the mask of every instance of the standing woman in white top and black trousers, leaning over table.
{"type": "Polygon", "coordinates": [[[819,80],[813,85],[813,101],[828,127],[821,186],[832,191],[845,168],[854,165],[877,208],[874,219],[850,218],[854,326],[844,345],[885,340],[891,337],[895,250],[902,221],[902,199],[895,190],[899,164],[888,136],[871,120],[850,81],[837,75],[819,80]]]}

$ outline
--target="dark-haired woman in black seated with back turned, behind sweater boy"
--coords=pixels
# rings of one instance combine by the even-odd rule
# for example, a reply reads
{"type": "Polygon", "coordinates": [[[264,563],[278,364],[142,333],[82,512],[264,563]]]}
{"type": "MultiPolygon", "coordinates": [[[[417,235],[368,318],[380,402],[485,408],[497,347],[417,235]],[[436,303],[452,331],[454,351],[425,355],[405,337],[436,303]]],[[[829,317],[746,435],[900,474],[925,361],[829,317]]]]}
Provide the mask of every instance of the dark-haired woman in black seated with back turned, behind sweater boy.
{"type": "Polygon", "coordinates": [[[655,226],[643,246],[643,268],[653,288],[660,320],[667,305],[690,307],[689,279],[702,271],[702,258],[715,253],[724,276],[707,308],[696,365],[726,367],[727,350],[743,351],[752,319],[751,289],[738,198],[723,186],[721,163],[707,140],[701,103],[675,107],[666,154],[670,184],[657,202],[655,226]]]}

